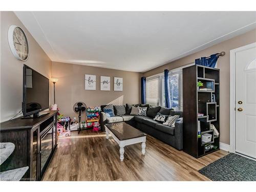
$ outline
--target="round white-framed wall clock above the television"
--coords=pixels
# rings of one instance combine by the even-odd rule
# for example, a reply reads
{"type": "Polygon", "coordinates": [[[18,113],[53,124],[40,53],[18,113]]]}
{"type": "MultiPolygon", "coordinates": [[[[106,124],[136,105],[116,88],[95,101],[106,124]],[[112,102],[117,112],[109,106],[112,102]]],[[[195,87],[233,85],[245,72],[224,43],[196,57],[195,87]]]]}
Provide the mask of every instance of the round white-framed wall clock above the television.
{"type": "Polygon", "coordinates": [[[8,30],[8,41],[12,54],[18,60],[27,60],[29,57],[29,44],[22,28],[12,25],[8,30]]]}

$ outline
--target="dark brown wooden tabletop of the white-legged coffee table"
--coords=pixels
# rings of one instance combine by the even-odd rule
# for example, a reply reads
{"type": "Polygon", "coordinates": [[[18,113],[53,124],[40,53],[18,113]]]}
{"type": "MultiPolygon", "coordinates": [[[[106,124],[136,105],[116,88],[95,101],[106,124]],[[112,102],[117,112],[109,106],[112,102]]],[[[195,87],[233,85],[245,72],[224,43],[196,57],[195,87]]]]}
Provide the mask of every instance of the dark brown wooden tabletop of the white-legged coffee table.
{"type": "Polygon", "coordinates": [[[125,122],[106,123],[105,125],[120,141],[146,136],[146,134],[125,122]]]}

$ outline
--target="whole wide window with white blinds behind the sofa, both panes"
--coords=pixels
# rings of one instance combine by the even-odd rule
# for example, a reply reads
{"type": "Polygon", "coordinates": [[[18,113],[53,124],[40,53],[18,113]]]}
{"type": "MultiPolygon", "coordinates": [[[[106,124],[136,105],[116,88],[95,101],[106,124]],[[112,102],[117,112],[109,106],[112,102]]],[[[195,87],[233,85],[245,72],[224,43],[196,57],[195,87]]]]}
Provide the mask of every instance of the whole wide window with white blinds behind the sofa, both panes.
{"type": "MultiPolygon", "coordinates": [[[[183,110],[182,99],[182,69],[195,65],[191,63],[189,65],[176,68],[169,71],[169,95],[170,95],[170,107],[175,110],[183,110]]],[[[164,74],[158,74],[156,76],[146,79],[146,103],[153,106],[165,106],[164,97],[164,74]]]]}

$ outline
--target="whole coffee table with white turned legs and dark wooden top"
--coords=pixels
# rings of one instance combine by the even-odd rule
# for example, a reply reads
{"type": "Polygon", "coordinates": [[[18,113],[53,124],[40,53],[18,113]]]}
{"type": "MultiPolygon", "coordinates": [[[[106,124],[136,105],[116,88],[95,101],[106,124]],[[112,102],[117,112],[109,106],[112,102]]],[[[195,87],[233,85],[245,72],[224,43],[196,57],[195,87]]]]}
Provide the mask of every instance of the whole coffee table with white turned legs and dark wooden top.
{"type": "Polygon", "coordinates": [[[124,147],[135,143],[141,143],[141,152],[145,155],[146,151],[146,134],[135,129],[125,122],[106,123],[106,139],[109,139],[109,134],[119,144],[120,160],[123,161],[124,147]]]}

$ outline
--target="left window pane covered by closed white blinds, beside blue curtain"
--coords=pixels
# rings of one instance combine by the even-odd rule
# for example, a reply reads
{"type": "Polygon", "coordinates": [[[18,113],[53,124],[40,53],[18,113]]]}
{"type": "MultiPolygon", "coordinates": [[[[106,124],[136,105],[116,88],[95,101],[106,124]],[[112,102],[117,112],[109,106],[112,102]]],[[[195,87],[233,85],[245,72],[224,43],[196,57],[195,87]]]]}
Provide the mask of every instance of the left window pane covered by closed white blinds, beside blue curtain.
{"type": "Polygon", "coordinates": [[[146,103],[159,106],[159,88],[160,88],[159,76],[146,79],[146,103]]]}

